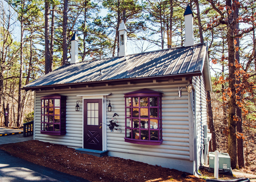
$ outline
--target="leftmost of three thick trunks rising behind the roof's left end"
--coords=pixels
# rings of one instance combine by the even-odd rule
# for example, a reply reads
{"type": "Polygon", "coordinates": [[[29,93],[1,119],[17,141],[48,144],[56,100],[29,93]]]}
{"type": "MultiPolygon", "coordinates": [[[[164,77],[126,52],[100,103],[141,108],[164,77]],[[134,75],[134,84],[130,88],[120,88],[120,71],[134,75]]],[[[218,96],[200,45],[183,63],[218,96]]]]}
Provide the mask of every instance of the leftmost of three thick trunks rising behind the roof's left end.
{"type": "Polygon", "coordinates": [[[48,0],[44,1],[45,10],[44,10],[44,49],[45,49],[45,70],[44,73],[47,74],[50,72],[50,36],[49,36],[49,15],[50,15],[50,6],[48,0]]]}

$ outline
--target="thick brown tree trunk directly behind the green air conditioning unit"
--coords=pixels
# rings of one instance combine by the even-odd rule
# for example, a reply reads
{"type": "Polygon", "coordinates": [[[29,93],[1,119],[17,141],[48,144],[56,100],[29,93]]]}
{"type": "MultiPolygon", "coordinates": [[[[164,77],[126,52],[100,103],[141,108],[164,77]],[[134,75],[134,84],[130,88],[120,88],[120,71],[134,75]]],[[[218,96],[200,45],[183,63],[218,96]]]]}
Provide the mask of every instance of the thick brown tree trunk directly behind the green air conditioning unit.
{"type": "Polygon", "coordinates": [[[230,156],[231,168],[237,167],[237,141],[236,141],[236,66],[235,66],[235,47],[234,47],[234,30],[236,23],[233,19],[232,0],[226,1],[228,13],[228,154],[230,156]]]}

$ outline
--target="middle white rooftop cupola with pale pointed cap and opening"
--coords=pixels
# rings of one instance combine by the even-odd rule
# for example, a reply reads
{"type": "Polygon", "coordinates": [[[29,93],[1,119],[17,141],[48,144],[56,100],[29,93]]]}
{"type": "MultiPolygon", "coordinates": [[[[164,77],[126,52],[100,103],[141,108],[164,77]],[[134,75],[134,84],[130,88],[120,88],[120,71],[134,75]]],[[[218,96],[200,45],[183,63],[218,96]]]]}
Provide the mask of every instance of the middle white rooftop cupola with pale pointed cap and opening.
{"type": "Polygon", "coordinates": [[[118,28],[119,31],[119,53],[118,57],[127,55],[127,28],[122,21],[118,28]]]}

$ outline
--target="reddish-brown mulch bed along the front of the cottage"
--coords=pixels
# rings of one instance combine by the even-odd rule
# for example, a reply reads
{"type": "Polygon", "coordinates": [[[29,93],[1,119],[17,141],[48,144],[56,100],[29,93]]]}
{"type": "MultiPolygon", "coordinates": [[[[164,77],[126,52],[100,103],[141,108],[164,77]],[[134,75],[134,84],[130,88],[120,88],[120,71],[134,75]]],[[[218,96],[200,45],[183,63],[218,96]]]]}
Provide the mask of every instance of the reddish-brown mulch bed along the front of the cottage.
{"type": "Polygon", "coordinates": [[[0,149],[34,164],[93,182],[205,182],[189,173],[186,173],[188,176],[183,178],[182,171],[119,157],[79,154],[73,148],[38,140],[4,144],[0,145],[0,149]]]}

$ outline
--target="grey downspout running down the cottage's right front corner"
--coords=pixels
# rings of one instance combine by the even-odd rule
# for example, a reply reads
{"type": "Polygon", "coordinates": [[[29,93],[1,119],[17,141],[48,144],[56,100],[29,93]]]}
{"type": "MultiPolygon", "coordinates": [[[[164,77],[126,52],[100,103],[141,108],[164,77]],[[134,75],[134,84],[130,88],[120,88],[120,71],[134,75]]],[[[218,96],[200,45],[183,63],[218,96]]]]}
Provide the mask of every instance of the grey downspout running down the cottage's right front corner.
{"type": "MultiPolygon", "coordinates": [[[[194,91],[194,98],[196,98],[196,89],[194,87],[193,84],[191,84],[192,88],[193,88],[193,91],[194,91]]],[[[192,108],[192,111],[193,111],[193,116],[194,116],[194,153],[195,153],[195,162],[196,162],[196,174],[201,176],[202,174],[200,174],[198,172],[198,165],[197,165],[197,132],[196,132],[196,99],[194,100],[194,107],[192,105],[192,100],[191,100],[191,92],[189,93],[189,97],[190,97],[190,104],[191,104],[191,108],[192,108]]]]}

